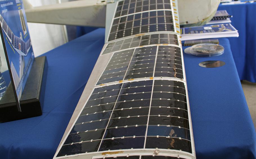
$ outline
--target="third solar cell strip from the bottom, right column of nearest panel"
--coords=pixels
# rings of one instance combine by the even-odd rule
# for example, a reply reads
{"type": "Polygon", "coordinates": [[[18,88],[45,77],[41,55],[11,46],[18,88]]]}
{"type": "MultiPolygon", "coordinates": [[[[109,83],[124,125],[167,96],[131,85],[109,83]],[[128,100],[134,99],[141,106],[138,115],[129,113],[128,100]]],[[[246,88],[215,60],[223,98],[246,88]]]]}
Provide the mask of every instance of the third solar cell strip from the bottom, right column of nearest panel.
{"type": "Polygon", "coordinates": [[[170,125],[189,129],[187,119],[172,116],[150,116],[149,125],[170,125]]]}

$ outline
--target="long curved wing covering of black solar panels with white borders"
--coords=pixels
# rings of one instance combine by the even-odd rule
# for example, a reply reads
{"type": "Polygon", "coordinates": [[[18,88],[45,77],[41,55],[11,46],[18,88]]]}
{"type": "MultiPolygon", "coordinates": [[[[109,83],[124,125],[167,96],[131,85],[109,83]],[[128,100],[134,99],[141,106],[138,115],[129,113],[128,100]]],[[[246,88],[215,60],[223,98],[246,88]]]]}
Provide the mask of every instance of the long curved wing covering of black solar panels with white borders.
{"type": "Polygon", "coordinates": [[[196,158],[176,3],[117,2],[111,57],[55,158],[196,158]]]}

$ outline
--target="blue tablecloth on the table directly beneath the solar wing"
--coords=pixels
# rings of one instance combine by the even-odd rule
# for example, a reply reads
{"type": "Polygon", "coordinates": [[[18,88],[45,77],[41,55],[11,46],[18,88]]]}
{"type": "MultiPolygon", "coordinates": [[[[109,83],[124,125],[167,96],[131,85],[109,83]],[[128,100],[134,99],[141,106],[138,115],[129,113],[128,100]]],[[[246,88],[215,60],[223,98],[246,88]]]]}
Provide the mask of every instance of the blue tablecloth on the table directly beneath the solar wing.
{"type": "MultiPolygon", "coordinates": [[[[104,45],[97,29],[44,54],[48,60],[43,115],[0,123],[0,158],[52,158],[104,45]]],[[[218,57],[184,55],[197,158],[255,158],[255,129],[228,39],[218,57]],[[204,60],[223,60],[202,68],[204,60]]]]}

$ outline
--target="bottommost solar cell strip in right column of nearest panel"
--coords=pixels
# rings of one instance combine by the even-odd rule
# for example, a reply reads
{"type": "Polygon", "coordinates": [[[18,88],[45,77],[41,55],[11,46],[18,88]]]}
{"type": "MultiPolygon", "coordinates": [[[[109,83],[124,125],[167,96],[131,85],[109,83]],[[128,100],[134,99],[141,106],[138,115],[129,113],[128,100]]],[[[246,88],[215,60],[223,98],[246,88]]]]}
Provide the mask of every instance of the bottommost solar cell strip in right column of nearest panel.
{"type": "Polygon", "coordinates": [[[192,153],[190,141],[172,137],[147,137],[145,148],[174,149],[192,153]]]}

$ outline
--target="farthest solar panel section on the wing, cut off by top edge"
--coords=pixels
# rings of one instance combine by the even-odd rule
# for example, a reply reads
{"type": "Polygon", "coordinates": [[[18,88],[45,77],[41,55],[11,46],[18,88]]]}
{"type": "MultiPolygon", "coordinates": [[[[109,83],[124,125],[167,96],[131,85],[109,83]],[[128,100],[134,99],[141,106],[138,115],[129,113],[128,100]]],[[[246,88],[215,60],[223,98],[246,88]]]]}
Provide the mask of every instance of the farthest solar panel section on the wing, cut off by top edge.
{"type": "Polygon", "coordinates": [[[162,0],[157,0],[157,1],[143,0],[143,1],[134,1],[134,2],[129,1],[128,4],[122,3],[122,1],[119,1],[119,3],[117,4],[117,9],[114,17],[116,18],[124,15],[130,15],[133,13],[139,13],[142,11],[156,10],[156,8],[171,10],[170,0],[163,0],[163,1],[162,0]],[[127,8],[127,5],[129,5],[129,8],[127,8]],[[123,9],[120,10],[121,8],[123,9]]]}

